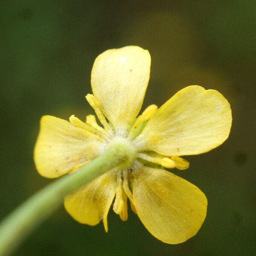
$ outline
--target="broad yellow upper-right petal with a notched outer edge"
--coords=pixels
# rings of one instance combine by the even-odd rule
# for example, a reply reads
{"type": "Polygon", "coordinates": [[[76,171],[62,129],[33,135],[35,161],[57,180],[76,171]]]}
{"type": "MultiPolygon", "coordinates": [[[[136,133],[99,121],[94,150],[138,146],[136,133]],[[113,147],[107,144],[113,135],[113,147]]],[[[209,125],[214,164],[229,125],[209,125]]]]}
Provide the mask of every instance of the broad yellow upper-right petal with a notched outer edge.
{"type": "Polygon", "coordinates": [[[221,93],[192,85],[159,108],[134,143],[168,156],[201,154],[227,139],[231,122],[230,104],[221,93]]]}

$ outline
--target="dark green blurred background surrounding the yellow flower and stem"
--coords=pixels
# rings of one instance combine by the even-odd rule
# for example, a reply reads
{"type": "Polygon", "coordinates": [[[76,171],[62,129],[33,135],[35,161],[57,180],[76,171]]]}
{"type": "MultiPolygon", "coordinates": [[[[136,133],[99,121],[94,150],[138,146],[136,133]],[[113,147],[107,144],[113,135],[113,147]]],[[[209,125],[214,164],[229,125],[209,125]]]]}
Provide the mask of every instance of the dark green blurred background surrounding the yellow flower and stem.
{"type": "Polygon", "coordinates": [[[163,104],[190,84],[219,90],[233,110],[229,139],[207,154],[185,157],[174,173],[209,201],[198,234],[169,245],[132,212],[110,210],[109,232],[74,221],[64,208],[33,233],[17,256],[256,254],[256,1],[1,1],[0,218],[50,183],[38,175],[33,147],[44,114],[81,119],[94,59],[106,49],[148,49],[145,106],[163,104]]]}

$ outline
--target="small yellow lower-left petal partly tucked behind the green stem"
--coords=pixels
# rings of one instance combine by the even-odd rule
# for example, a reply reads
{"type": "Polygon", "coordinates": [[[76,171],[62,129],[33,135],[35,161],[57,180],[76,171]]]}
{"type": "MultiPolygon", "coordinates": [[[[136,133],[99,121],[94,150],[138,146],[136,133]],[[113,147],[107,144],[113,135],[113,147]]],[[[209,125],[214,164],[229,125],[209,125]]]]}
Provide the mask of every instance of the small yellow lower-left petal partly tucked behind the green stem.
{"type": "Polygon", "coordinates": [[[64,200],[67,212],[78,222],[94,226],[107,216],[116,193],[116,171],[108,171],[68,195],[64,200]]]}

